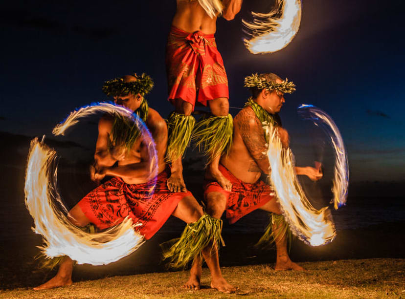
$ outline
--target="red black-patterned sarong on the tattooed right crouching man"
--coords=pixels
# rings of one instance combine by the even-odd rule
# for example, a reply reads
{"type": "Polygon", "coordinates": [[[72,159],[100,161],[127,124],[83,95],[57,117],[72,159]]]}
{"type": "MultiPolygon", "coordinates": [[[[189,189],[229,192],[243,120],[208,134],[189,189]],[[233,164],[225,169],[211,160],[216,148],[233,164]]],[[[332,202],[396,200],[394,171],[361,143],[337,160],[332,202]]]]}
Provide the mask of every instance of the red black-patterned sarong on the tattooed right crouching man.
{"type": "Polygon", "coordinates": [[[219,170],[232,183],[232,191],[225,191],[216,181],[205,181],[204,197],[210,192],[220,192],[226,197],[226,218],[230,224],[259,209],[270,200],[275,200],[273,189],[259,180],[254,184],[241,181],[222,164],[219,170]]]}

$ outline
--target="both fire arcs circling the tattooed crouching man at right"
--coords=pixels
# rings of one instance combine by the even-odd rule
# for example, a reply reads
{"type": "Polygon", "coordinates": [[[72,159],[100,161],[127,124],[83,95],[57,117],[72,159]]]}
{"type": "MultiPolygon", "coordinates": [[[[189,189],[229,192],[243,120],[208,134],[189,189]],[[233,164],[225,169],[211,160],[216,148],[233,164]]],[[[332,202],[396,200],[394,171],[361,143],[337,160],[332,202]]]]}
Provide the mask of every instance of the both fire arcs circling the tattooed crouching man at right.
{"type": "MultiPolygon", "coordinates": [[[[332,140],[336,151],[336,167],[334,187],[335,205],[345,202],[348,186],[348,166],[346,151],[341,135],[333,120],[322,110],[313,106],[301,106],[308,109],[315,125],[323,126],[332,140]]],[[[303,110],[300,110],[303,111],[303,110]]],[[[305,243],[319,246],[331,242],[336,236],[335,224],[328,207],[316,210],[308,200],[298,182],[294,170],[295,162],[290,148],[283,148],[276,129],[271,125],[265,126],[269,137],[267,155],[270,162],[270,183],[274,187],[281,210],[290,225],[293,234],[305,243]]],[[[336,206],[337,208],[337,206],[336,206]]]]}

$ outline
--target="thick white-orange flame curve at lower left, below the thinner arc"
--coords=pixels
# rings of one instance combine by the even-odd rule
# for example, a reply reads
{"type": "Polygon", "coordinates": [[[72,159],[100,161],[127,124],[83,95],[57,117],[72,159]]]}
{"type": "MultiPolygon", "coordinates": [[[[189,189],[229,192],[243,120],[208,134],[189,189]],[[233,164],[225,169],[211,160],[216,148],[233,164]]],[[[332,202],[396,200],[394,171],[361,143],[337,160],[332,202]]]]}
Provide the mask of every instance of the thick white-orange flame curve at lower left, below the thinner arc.
{"type": "Polygon", "coordinates": [[[55,158],[56,152],[37,138],[31,142],[25,205],[34,219],[33,231],[44,237],[44,245],[39,248],[45,256],[70,256],[79,264],[103,265],[127,256],[143,244],[143,236],[134,231],[131,218],[98,234],[85,233],[71,224],[52,201],[59,197],[49,177],[55,158]]]}

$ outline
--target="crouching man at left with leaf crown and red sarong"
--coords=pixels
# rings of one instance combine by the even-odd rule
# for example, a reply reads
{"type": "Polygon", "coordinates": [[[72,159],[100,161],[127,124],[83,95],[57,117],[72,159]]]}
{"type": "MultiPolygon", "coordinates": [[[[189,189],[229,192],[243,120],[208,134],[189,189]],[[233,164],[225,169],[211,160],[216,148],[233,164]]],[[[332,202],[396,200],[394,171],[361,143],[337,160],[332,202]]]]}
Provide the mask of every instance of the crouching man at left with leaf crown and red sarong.
{"type": "MultiPolygon", "coordinates": [[[[123,123],[117,125],[123,118],[103,116],[98,124],[95,167],[91,176],[93,180],[101,180],[106,175],[113,178],[91,191],[70,210],[68,219],[74,225],[84,227],[91,222],[99,229],[106,229],[122,222],[129,215],[133,223],[142,223],[142,226],[135,229],[139,230],[146,240],[160,229],[171,214],[188,223],[186,230],[193,229],[193,224],[203,218],[204,223],[208,221],[210,225],[216,225],[217,220],[210,222],[212,218],[203,214],[203,209],[190,192],[170,192],[167,189],[166,180],[170,174],[170,169],[164,162],[167,126],[159,113],[148,107],[144,98],[152,86],[153,82],[149,76],[135,74],[106,82],[103,91],[114,96],[115,104],[135,111],[152,133],[158,155],[158,177],[153,195],[145,195],[149,193],[151,186],[148,183],[151,174],[147,146],[143,144],[142,137],[132,138],[138,129],[128,126],[125,131],[123,123]],[[115,126],[120,131],[117,131],[115,126]]],[[[220,224],[217,223],[217,227],[219,231],[220,224]]],[[[197,232],[192,237],[200,235],[197,232]]],[[[196,251],[203,252],[211,270],[211,287],[221,292],[229,292],[232,286],[222,277],[218,251],[216,246],[213,246],[212,235],[203,237],[208,245],[196,251]]],[[[175,245],[181,247],[181,242],[192,243],[192,240],[180,238],[175,245]]],[[[178,254],[172,250],[173,253],[178,254]]],[[[169,257],[173,263],[179,262],[180,258],[181,262],[186,262],[182,260],[182,256],[169,257]]],[[[34,290],[71,285],[72,270],[73,260],[65,256],[56,276],[34,290]]]]}

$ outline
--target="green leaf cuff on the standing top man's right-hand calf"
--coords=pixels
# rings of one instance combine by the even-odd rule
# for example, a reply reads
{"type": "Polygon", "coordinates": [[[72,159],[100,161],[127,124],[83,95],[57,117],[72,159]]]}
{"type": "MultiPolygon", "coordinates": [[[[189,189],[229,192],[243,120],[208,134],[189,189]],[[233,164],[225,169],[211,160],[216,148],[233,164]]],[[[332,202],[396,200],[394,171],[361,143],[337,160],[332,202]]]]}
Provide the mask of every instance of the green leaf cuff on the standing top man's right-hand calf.
{"type": "Polygon", "coordinates": [[[195,126],[191,138],[197,141],[196,147],[208,157],[207,164],[210,164],[214,158],[229,153],[232,137],[232,115],[205,114],[195,126]]]}

